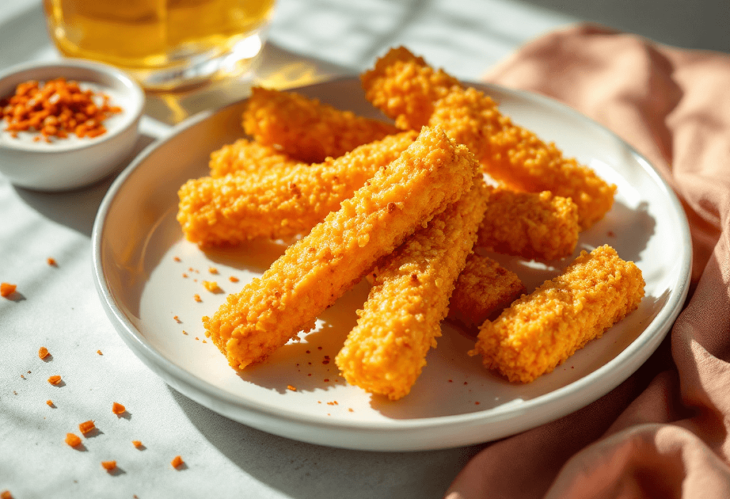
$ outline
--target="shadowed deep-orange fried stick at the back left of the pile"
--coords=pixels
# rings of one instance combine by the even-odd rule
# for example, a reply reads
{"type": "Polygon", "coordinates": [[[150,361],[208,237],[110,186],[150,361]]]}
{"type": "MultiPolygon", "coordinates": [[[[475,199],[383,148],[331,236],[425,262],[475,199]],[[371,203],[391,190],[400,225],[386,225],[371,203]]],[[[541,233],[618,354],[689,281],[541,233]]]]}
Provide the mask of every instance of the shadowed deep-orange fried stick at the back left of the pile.
{"type": "Polygon", "coordinates": [[[377,119],[340,111],[296,93],[254,87],[243,114],[243,127],[260,144],[303,162],[339,157],[357,146],[397,133],[377,119]]]}

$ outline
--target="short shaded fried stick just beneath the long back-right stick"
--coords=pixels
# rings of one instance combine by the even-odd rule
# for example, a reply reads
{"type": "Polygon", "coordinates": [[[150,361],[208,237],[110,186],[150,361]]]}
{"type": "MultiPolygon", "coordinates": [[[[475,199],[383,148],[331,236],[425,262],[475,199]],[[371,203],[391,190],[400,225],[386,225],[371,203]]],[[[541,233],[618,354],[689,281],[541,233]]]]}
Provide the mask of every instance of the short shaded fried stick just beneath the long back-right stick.
{"type": "Polygon", "coordinates": [[[513,192],[488,188],[478,245],[526,259],[558,259],[578,241],[578,214],[569,198],[549,191],[513,192]]]}

